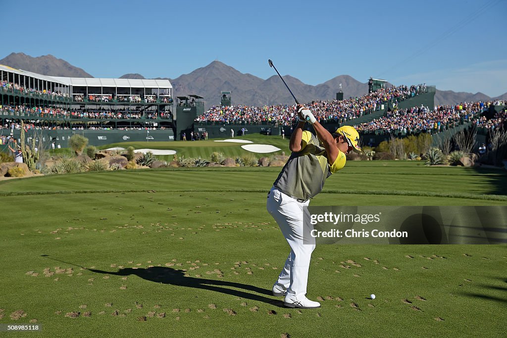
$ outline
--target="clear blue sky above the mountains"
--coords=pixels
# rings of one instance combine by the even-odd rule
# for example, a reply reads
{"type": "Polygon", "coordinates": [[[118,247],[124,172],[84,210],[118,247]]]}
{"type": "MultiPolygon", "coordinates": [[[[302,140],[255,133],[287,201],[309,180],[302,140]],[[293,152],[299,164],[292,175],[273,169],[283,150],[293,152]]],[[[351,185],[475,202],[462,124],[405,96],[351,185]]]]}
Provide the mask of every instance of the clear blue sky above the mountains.
{"type": "Polygon", "coordinates": [[[94,77],[178,76],[213,60],[262,79],[341,74],[440,90],[507,92],[506,0],[9,1],[3,44],[94,77]]]}

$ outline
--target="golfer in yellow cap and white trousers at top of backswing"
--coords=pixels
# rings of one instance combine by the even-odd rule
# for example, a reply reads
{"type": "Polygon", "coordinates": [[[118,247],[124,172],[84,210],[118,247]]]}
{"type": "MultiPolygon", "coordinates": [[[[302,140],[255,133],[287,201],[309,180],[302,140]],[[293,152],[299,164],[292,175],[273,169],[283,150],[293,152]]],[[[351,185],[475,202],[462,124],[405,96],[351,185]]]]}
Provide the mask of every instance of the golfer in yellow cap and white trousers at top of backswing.
{"type": "Polygon", "coordinates": [[[285,296],[287,307],[312,309],[320,307],[320,303],[306,297],[315,239],[309,235],[313,226],[303,223],[303,207],[320,193],[330,175],[345,166],[345,155],[350,151],[361,152],[361,148],[357,144],[359,134],[353,127],[343,126],[331,134],[316,121],[310,110],[302,105],[298,105],[297,110],[299,123],[289,142],[291,157],[268,193],[268,212],[291,247],[273,285],[273,295],[285,296]],[[303,131],[307,119],[317,137],[303,131]]]}

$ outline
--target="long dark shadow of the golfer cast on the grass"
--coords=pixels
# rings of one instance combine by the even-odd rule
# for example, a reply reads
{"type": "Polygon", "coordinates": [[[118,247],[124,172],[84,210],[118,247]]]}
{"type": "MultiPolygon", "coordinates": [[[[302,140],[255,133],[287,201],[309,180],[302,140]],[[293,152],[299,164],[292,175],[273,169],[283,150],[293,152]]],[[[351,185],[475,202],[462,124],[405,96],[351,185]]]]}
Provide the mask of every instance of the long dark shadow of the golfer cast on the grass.
{"type": "Polygon", "coordinates": [[[264,302],[270,305],[283,307],[282,301],[277,301],[276,299],[267,298],[263,295],[270,295],[271,293],[266,289],[261,289],[257,286],[241,284],[235,282],[214,280],[214,279],[206,279],[206,278],[195,278],[195,277],[185,277],[185,272],[182,270],[176,270],[172,268],[165,267],[151,267],[148,269],[120,269],[118,272],[110,272],[96,269],[88,269],[89,271],[96,272],[99,274],[107,274],[114,276],[129,276],[135,275],[142,279],[146,279],[155,283],[164,283],[171,284],[176,286],[185,286],[185,287],[193,287],[196,289],[203,289],[215,292],[221,292],[225,294],[230,294],[233,296],[251,299],[252,301],[264,302]],[[236,289],[240,290],[236,290],[236,289]],[[249,290],[256,292],[249,293],[242,290],[249,290]],[[261,295],[263,294],[263,295],[261,295]]]}

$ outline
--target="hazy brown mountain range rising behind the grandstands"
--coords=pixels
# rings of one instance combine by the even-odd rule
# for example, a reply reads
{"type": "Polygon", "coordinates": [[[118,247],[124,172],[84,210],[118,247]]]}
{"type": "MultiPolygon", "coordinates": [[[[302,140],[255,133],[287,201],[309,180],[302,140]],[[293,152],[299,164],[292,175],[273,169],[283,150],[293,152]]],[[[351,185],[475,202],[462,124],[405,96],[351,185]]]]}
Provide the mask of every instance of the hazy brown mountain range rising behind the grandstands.
{"type": "MultiPolygon", "coordinates": [[[[93,78],[82,68],[73,66],[67,61],[58,59],[53,55],[31,57],[23,53],[11,53],[0,60],[0,64],[48,76],[93,78]]],[[[120,78],[144,79],[138,73],[127,73],[120,78]]],[[[197,94],[204,97],[205,106],[208,108],[211,105],[220,104],[220,92],[222,90],[232,93],[232,104],[261,106],[265,104],[294,103],[291,94],[277,75],[263,80],[252,74],[241,73],[220,61],[213,61],[205,67],[197,68],[176,79],[156,79],[169,80],[173,86],[174,96],[197,94]]],[[[361,83],[348,75],[337,76],[316,86],[304,84],[290,75],[283,76],[283,79],[300,102],[335,99],[340,84],[342,85],[344,98],[362,96],[368,93],[368,84],[366,82],[361,83]]],[[[389,83],[387,85],[391,86],[389,83]]],[[[406,85],[410,86],[413,84],[406,85]]],[[[456,104],[465,101],[488,101],[495,99],[506,100],[507,93],[492,98],[480,92],[472,94],[437,89],[435,94],[436,104],[456,104]]]]}

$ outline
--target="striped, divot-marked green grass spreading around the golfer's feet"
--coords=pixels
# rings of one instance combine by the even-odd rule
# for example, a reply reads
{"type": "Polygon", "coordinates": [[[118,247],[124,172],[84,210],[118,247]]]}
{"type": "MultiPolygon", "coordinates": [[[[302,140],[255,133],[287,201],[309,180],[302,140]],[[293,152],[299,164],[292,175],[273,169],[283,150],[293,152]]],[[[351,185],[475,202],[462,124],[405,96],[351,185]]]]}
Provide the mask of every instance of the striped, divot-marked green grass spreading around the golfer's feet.
{"type": "MultiPolygon", "coordinates": [[[[320,245],[308,296],[322,307],[284,308],[270,291],[288,245],[265,207],[279,170],[0,181],[0,323],[62,337],[503,336],[504,245],[320,245]]],[[[502,170],[350,161],[311,203],[505,205],[505,191],[502,170]]]]}

